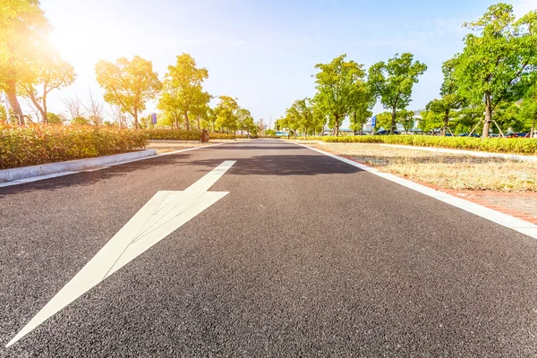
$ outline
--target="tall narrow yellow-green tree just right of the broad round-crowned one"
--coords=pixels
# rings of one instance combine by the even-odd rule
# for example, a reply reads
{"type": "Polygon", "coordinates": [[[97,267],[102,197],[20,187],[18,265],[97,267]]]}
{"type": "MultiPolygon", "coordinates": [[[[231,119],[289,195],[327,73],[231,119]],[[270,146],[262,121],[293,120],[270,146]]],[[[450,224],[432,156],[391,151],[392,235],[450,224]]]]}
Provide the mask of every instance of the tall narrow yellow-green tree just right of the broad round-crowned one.
{"type": "Polygon", "coordinates": [[[184,115],[184,127],[190,130],[188,114],[192,107],[209,102],[208,93],[203,92],[202,83],[209,78],[205,68],[197,68],[196,61],[189,54],[177,56],[175,66],[168,66],[166,73],[167,86],[170,89],[171,106],[179,108],[184,115]]]}

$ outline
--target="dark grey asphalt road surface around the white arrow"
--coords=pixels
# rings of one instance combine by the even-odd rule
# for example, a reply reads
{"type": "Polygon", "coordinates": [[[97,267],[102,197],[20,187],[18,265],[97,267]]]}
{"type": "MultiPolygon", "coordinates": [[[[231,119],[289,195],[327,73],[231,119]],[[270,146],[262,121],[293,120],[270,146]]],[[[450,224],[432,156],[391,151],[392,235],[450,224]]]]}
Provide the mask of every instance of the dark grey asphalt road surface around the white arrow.
{"type": "Polygon", "coordinates": [[[537,241],[257,140],[0,189],[1,357],[537,356],[537,241]],[[159,191],[229,192],[4,347],[159,191]]]}

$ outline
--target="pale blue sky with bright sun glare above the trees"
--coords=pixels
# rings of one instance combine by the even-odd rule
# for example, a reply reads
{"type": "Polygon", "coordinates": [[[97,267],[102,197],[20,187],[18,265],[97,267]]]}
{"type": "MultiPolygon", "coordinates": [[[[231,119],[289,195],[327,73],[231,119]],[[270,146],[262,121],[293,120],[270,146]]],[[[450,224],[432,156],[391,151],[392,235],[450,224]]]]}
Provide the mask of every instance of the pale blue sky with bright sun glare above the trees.
{"type": "MultiPolygon", "coordinates": [[[[506,1],[517,15],[537,0],[506,1]]],[[[346,54],[369,67],[411,52],[428,70],[414,86],[409,108],[438,96],[441,65],[463,49],[465,21],[490,0],[41,0],[54,30],[51,40],[77,73],[69,88],[51,93],[49,109],[65,112],[62,98],[82,100],[92,90],[98,59],[141,55],[162,79],[175,56],[191,54],[206,67],[205,90],[231,96],[265,124],[295,99],[315,93],[315,64],[346,54]]],[[[145,113],[155,111],[149,103],[145,113]]],[[[383,111],[378,104],[375,113],[383,111]]],[[[344,124],[345,126],[345,124],[344,124]]]]}

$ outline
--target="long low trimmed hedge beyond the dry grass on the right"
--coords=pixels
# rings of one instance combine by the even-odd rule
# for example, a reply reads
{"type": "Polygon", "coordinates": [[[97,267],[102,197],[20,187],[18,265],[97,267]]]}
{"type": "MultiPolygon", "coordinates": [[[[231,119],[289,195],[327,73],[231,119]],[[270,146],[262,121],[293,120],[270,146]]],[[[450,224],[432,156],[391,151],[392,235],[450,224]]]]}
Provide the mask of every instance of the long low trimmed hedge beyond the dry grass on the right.
{"type": "Polygon", "coordinates": [[[437,137],[430,135],[362,135],[321,137],[322,141],[348,143],[386,143],[420,147],[467,149],[496,153],[537,155],[537,139],[529,138],[466,138],[437,137]]]}

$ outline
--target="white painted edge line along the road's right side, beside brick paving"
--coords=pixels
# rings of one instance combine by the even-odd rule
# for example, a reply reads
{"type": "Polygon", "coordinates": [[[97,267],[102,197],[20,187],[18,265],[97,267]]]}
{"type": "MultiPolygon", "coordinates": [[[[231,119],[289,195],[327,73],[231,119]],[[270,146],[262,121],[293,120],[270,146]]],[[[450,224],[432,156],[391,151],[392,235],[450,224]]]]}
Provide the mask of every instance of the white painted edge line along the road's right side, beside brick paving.
{"type": "Polygon", "coordinates": [[[511,217],[510,215],[501,213],[499,211],[485,208],[482,205],[476,204],[472,201],[464,200],[461,198],[456,198],[453,195],[449,195],[446,192],[439,192],[437,190],[431,189],[425,185],[414,183],[410,180],[404,179],[402,177],[391,175],[388,173],[381,173],[377,169],[372,168],[371,166],[364,166],[360,163],[356,163],[353,160],[339,157],[335,154],[328,153],[324,150],[311,148],[305,144],[302,143],[294,143],[296,145],[305,147],[307,149],[315,150],[318,153],[324,154],[325,156],[335,158],[337,160],[340,160],[348,165],[355,166],[357,168],[360,168],[366,172],[369,172],[373,175],[378,175],[384,179],[389,180],[390,182],[398,183],[399,185],[403,185],[409,189],[412,189],[415,192],[421,192],[422,194],[425,194],[427,196],[430,196],[431,198],[434,198],[436,200],[443,201],[449,205],[452,205],[456,208],[463,209],[469,213],[472,213],[474,215],[477,215],[478,217],[486,218],[487,220],[490,220],[496,224],[499,224],[501,226],[508,227],[512,230],[515,230],[518,233],[525,234],[527,236],[533,237],[534,239],[537,239],[537,225],[534,225],[530,222],[524,221],[517,217],[511,217]]]}

